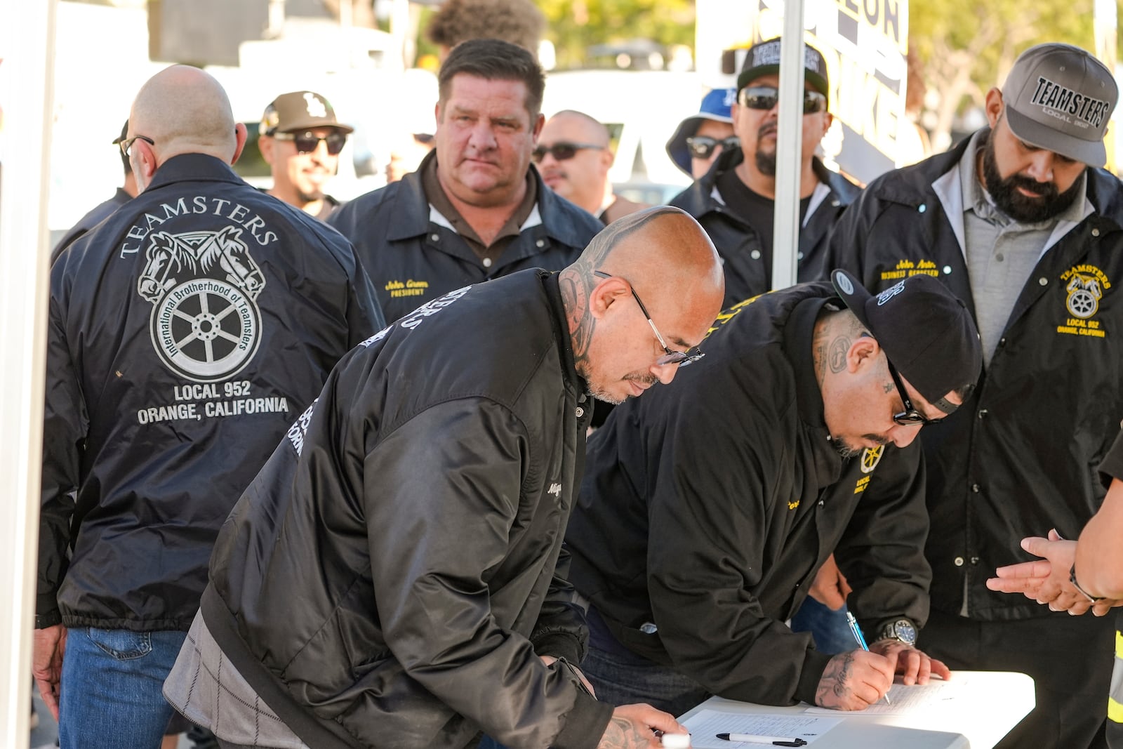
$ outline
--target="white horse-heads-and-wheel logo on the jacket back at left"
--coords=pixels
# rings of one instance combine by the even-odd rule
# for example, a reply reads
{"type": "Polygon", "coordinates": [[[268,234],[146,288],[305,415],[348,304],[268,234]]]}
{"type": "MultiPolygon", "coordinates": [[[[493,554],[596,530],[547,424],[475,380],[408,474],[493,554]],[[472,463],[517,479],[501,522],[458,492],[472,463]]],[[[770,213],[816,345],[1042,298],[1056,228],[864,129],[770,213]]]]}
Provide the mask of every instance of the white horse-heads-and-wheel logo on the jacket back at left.
{"type": "Polygon", "coordinates": [[[240,234],[157,231],[148,246],[137,292],[153,303],[153,346],[168,368],[197,382],[225,380],[257,351],[254,300],[265,281],[240,234]]]}

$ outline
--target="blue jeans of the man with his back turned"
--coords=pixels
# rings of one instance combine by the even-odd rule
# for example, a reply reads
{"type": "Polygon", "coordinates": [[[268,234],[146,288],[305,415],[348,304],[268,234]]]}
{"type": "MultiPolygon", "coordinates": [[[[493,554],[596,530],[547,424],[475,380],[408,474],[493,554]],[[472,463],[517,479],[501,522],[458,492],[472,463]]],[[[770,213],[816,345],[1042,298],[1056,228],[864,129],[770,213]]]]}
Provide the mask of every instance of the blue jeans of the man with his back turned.
{"type": "Polygon", "coordinates": [[[74,628],[58,703],[62,749],[157,749],[173,710],[161,689],[186,632],[74,628]]]}

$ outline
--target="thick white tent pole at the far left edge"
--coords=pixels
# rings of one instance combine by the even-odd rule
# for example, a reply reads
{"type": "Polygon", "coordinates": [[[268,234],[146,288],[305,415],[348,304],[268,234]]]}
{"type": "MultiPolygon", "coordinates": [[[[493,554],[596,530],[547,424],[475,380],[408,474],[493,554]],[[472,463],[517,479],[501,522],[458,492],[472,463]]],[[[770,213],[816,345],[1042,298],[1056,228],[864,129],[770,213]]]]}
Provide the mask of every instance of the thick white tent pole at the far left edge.
{"type": "MultiPolygon", "coordinates": [[[[0,184],[0,736],[30,737],[57,0],[4,2],[0,184]]],[[[72,175],[81,179],[81,175],[72,175]]]]}

